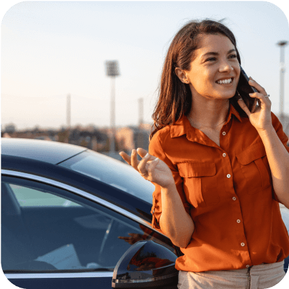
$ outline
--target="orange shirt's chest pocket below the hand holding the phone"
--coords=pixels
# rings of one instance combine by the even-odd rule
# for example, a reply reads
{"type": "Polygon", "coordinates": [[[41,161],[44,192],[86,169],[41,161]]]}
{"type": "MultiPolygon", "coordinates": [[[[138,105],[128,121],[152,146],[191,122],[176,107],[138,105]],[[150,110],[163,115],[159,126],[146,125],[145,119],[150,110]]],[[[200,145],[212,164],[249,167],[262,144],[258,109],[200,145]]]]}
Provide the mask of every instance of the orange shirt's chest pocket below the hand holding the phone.
{"type": "Polygon", "coordinates": [[[247,192],[251,195],[271,185],[265,166],[267,155],[262,144],[255,144],[236,155],[244,175],[247,192]]]}

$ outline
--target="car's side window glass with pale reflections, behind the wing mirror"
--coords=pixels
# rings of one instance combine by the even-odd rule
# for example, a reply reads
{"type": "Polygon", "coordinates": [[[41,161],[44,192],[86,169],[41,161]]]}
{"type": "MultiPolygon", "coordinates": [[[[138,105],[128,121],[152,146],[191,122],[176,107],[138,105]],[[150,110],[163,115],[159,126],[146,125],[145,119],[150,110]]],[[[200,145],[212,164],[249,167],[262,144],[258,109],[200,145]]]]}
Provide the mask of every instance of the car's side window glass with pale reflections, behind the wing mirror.
{"type": "Polygon", "coordinates": [[[121,255],[143,239],[175,251],[158,233],[80,195],[1,177],[4,272],[113,271],[121,255]]]}

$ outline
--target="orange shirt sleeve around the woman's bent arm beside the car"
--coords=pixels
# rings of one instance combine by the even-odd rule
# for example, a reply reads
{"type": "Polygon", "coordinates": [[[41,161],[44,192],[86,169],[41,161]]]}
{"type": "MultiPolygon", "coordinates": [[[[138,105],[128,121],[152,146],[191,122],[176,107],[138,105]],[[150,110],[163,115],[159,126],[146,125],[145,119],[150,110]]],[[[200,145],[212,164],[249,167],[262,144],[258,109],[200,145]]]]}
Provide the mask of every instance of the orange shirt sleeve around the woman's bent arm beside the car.
{"type": "MultiPolygon", "coordinates": [[[[183,188],[183,179],[179,175],[179,171],[177,170],[177,168],[175,168],[170,159],[165,155],[165,152],[163,151],[161,142],[159,140],[158,133],[156,133],[153,136],[153,138],[151,138],[151,142],[149,143],[149,154],[151,154],[152,156],[156,156],[157,158],[159,158],[161,161],[165,162],[168,165],[168,167],[172,171],[172,176],[175,179],[177,191],[179,193],[179,196],[181,197],[181,201],[183,202],[184,209],[186,209],[186,212],[190,214],[191,205],[186,201],[186,196],[183,188]]],[[[159,225],[159,220],[162,212],[161,186],[155,184],[154,182],[152,182],[152,184],[154,184],[155,190],[153,193],[153,205],[151,207],[151,214],[153,217],[151,225],[153,228],[161,229],[159,225]]]]}

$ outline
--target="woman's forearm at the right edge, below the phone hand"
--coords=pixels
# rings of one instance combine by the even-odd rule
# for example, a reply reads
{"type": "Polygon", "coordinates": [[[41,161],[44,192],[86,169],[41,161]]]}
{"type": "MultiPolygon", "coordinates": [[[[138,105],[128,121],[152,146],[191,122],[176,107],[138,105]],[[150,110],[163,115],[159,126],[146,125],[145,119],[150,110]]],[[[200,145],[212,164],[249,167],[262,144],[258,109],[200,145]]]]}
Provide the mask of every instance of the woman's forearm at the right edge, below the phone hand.
{"type": "Polygon", "coordinates": [[[272,173],[274,191],[280,202],[289,209],[289,154],[274,127],[258,131],[265,146],[272,173]]]}

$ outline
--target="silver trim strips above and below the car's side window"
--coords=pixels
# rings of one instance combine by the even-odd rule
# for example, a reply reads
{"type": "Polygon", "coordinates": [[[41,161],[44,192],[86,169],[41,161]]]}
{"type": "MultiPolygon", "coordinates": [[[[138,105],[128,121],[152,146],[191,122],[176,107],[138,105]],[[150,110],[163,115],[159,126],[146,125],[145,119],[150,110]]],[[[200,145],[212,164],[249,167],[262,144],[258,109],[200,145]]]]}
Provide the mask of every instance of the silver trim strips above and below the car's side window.
{"type": "MultiPolygon", "coordinates": [[[[38,175],[32,175],[27,172],[17,172],[14,170],[2,170],[1,169],[1,175],[6,175],[9,177],[21,177],[22,179],[29,179],[32,181],[39,181],[44,184],[48,184],[50,186],[57,186],[58,188],[63,188],[66,191],[71,191],[72,193],[75,193],[76,195],[80,195],[84,198],[87,198],[93,202],[96,202],[100,205],[103,205],[103,207],[106,207],[108,209],[111,209],[112,211],[116,212],[117,214],[121,214],[125,216],[126,218],[130,218],[133,221],[136,221],[145,227],[149,228],[150,230],[157,232],[160,235],[163,235],[161,232],[158,232],[158,230],[151,227],[151,223],[144,221],[144,219],[140,218],[139,216],[135,216],[131,212],[126,211],[126,209],[123,209],[121,207],[118,207],[117,205],[114,205],[106,200],[103,200],[101,198],[98,198],[96,195],[92,195],[91,193],[87,193],[85,191],[80,190],[79,188],[75,188],[73,186],[70,186],[68,184],[63,184],[60,181],[55,181],[54,179],[49,179],[47,177],[40,177],[38,175]]],[[[165,236],[165,235],[163,235],[165,236]]],[[[167,236],[165,236],[167,237],[167,236]]],[[[67,273],[8,273],[4,274],[7,279],[28,279],[28,278],[91,278],[91,277],[112,277],[113,272],[67,272],[67,273]]]]}

